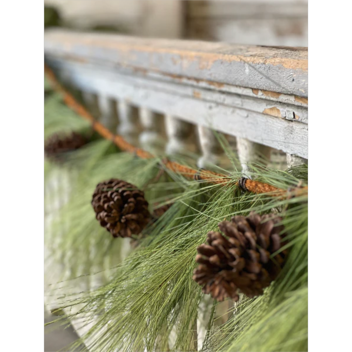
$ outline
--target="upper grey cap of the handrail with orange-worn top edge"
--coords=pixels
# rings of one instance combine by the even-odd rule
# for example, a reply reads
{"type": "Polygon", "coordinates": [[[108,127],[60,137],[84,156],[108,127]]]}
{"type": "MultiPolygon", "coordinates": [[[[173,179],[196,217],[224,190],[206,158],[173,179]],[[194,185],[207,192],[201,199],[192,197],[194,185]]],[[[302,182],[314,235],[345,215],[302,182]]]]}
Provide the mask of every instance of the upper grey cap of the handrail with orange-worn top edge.
{"type": "Polygon", "coordinates": [[[71,55],[91,63],[253,88],[258,94],[260,89],[263,95],[274,99],[273,93],[308,96],[306,48],[136,38],[56,29],[45,33],[44,49],[46,54],[71,55]]]}

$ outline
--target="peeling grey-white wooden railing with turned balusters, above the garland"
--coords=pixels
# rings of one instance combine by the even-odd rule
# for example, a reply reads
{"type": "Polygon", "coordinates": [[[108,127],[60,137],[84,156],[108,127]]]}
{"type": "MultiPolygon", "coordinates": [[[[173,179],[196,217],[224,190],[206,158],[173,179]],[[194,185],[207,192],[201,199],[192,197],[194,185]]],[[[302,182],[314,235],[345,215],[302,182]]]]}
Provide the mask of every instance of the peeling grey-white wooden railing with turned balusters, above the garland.
{"type": "Polygon", "coordinates": [[[189,149],[198,130],[200,167],[220,160],[211,130],[237,138],[244,165],[270,156],[268,147],[287,153],[289,165],[308,159],[307,48],[59,29],[46,32],[44,49],[63,82],[132,143],[161,147],[165,124],[167,153],[189,149]]]}

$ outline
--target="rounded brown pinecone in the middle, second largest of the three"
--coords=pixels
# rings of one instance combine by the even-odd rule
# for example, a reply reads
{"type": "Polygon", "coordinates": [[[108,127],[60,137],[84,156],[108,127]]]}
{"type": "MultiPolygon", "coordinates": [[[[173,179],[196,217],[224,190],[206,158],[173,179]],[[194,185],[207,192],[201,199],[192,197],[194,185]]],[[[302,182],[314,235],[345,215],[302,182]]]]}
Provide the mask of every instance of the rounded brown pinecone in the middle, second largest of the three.
{"type": "Polygon", "coordinates": [[[144,192],[116,178],[96,186],[92,206],[100,225],[114,237],[139,234],[151,219],[144,192]]]}

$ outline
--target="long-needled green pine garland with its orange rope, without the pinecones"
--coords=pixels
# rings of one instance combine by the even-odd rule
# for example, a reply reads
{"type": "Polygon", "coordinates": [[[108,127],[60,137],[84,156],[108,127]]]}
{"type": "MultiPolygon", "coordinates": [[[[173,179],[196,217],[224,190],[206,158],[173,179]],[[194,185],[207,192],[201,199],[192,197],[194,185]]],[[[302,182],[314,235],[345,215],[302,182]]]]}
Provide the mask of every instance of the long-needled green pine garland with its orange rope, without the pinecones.
{"type": "MultiPolygon", "coordinates": [[[[46,72],[52,74],[48,68],[46,72]]],[[[62,279],[91,280],[87,274],[107,269],[98,273],[108,277],[100,287],[83,296],[69,295],[62,303],[67,316],[59,321],[83,315],[88,322],[95,317],[77,345],[90,341],[89,350],[94,351],[306,351],[307,166],[278,171],[251,165],[257,178],[248,180],[237,170],[226,175],[197,170],[177,158],[152,156],[94,121],[55,76],[50,77],[70,108],[85,118],[77,118],[64,105],[64,114],[48,118],[48,110],[45,135],[60,128],[93,127],[106,139],[91,141],[61,165],[59,172],[74,177],[69,198],[53,214],[51,236],[46,238],[46,244],[56,250],[55,260],[70,269],[62,279]],[[117,153],[112,145],[126,152],[117,153]],[[123,178],[143,189],[151,211],[168,205],[145,228],[143,238],[134,238],[138,246],[133,250],[128,246],[130,239],[113,239],[95,219],[90,204],[93,191],[109,178],[123,178]],[[228,319],[219,323],[223,306],[203,295],[192,280],[196,249],[205,243],[208,232],[218,229],[219,222],[251,211],[274,212],[282,219],[285,244],[280,250],[289,250],[289,255],[264,295],[247,298],[240,294],[239,302],[225,309],[228,319]],[[202,321],[200,329],[197,320],[202,321]]],[[[49,95],[46,106],[49,103],[57,107],[58,96],[49,95]]],[[[226,152],[230,157],[230,151],[226,152]]],[[[57,166],[49,163],[47,180],[55,170],[57,166]]],[[[64,282],[66,288],[72,285],[72,281],[64,282]]]]}

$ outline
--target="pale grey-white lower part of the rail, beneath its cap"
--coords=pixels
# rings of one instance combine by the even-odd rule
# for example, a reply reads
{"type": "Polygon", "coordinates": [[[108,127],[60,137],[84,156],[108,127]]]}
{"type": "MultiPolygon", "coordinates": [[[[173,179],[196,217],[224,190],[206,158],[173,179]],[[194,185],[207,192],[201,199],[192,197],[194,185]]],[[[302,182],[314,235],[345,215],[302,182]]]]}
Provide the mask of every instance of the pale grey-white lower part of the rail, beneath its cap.
{"type": "Polygon", "coordinates": [[[53,55],[47,58],[53,67],[67,70],[74,86],[84,92],[118,101],[130,99],[133,106],[177,116],[194,125],[211,127],[231,136],[308,157],[308,111],[307,107],[297,106],[294,96],[289,103],[275,102],[275,98],[262,93],[261,96],[254,95],[251,88],[243,92],[219,92],[210,86],[196,87],[190,84],[188,77],[182,82],[162,80],[133,70],[126,74],[100,63],[73,63],[55,59],[53,55]],[[196,99],[194,91],[200,92],[201,98],[196,99]],[[299,120],[295,120],[294,114],[300,117],[299,120]],[[280,115],[281,118],[277,118],[280,115]]]}

